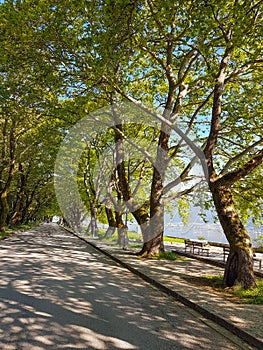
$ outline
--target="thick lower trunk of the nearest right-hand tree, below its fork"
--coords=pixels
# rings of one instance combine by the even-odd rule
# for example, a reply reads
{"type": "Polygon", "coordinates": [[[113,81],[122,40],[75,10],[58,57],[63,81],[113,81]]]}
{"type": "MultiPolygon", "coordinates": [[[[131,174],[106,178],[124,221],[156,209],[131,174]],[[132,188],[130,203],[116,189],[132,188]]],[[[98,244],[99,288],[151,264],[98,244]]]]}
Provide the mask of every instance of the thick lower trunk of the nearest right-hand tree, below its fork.
{"type": "Polygon", "coordinates": [[[232,287],[240,283],[244,289],[256,286],[251,239],[235,209],[231,187],[219,180],[210,184],[218,218],[230,245],[224,284],[232,287]]]}

